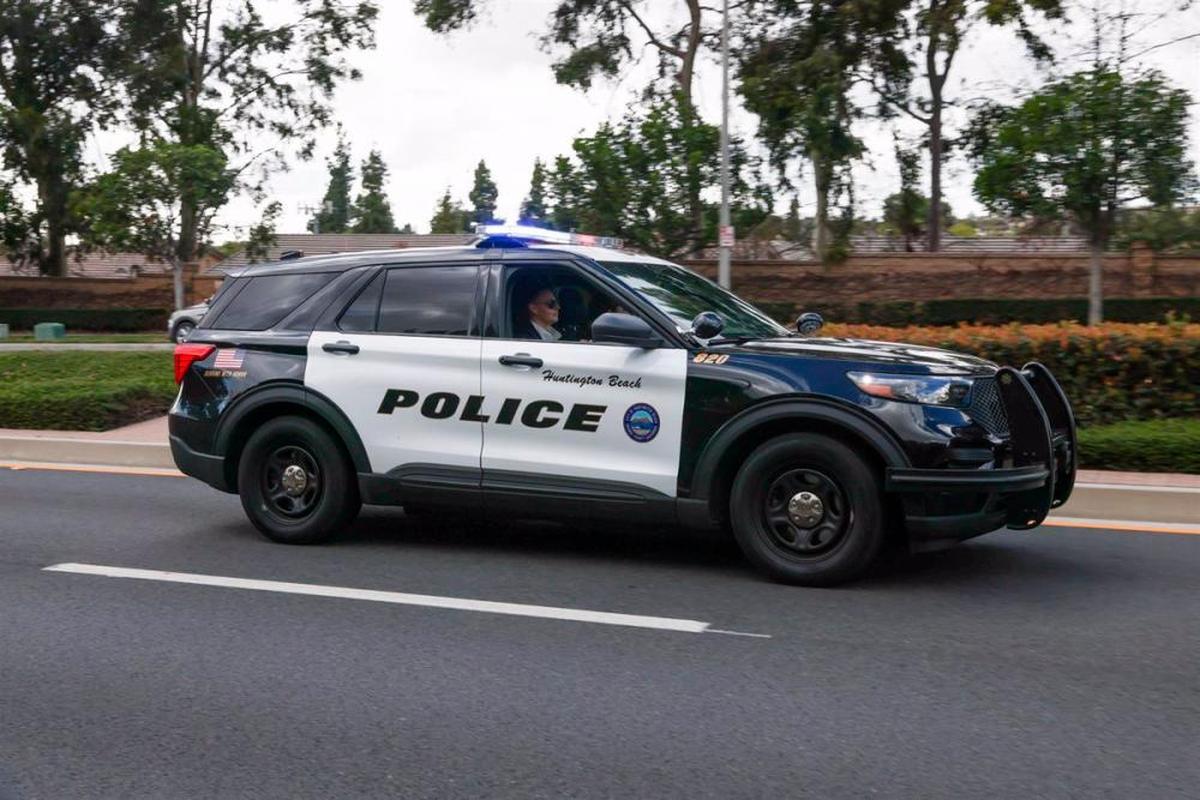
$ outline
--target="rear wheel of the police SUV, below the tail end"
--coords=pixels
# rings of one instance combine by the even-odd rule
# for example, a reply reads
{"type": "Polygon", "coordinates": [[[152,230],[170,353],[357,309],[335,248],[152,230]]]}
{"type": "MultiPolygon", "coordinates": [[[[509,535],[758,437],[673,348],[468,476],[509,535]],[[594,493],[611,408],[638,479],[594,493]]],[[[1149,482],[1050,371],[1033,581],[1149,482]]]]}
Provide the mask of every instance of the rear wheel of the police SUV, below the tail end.
{"type": "Polygon", "coordinates": [[[238,494],[254,527],[284,545],[326,541],[362,507],[342,449],[302,416],[277,417],[251,434],[238,463],[238,494]]]}

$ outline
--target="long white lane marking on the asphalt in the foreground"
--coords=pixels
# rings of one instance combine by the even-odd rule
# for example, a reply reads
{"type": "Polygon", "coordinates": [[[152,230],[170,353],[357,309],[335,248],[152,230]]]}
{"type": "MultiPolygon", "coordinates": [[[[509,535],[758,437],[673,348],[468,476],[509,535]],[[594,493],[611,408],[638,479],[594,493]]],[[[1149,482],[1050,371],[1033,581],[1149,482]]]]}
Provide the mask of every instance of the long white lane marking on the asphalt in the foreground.
{"type": "Polygon", "coordinates": [[[594,612],[582,608],[557,608],[554,606],[527,606],[524,603],[502,603],[490,600],[468,600],[464,597],[440,597],[438,595],[413,595],[402,591],[380,591],[376,589],[352,589],[349,587],[325,587],[313,583],[287,583],[283,581],[257,581],[251,578],[228,578],[217,575],[197,575],[194,572],[164,572],[161,570],[136,570],[121,566],[101,566],[97,564],[54,564],[43,567],[46,572],[71,572],[74,575],[96,575],[107,578],[133,578],[136,581],[160,581],[166,583],[188,583],[203,587],[223,587],[227,589],[251,589],[254,591],[277,591],[288,595],[312,595],[317,597],[341,597],[346,600],[367,600],[377,603],[396,603],[401,606],[424,606],[427,608],[452,608],[457,610],[482,612],[485,614],[509,614],[511,616],[538,616],[541,619],[568,620],[572,622],[592,622],[595,625],[622,625],[626,627],[648,627],[658,631],[678,631],[682,633],[704,633],[708,622],[692,619],[674,619],[671,616],[642,616],[638,614],[616,614],[612,612],[594,612]]]}

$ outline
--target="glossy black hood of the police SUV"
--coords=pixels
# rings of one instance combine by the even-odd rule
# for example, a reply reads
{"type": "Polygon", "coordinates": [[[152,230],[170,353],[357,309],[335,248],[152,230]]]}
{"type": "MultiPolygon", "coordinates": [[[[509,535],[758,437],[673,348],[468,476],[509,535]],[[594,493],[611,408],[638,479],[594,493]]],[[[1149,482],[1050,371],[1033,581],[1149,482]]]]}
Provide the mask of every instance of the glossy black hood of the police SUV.
{"type": "Polygon", "coordinates": [[[774,338],[748,342],[742,345],[746,353],[774,353],[811,359],[838,359],[844,361],[871,361],[898,367],[919,367],[919,372],[959,372],[991,374],[996,365],[973,355],[953,350],[904,344],[901,342],[872,342],[870,339],[844,338],[774,338]]]}

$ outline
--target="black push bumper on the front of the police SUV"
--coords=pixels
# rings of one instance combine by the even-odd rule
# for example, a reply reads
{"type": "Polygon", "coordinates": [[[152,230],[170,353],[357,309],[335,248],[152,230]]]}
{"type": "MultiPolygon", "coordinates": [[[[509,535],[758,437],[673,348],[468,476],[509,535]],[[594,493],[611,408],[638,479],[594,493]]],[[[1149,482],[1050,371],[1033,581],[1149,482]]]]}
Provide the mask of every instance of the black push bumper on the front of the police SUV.
{"type": "Polygon", "coordinates": [[[900,498],[913,549],[937,549],[1000,528],[1042,524],[1075,485],[1075,417],[1043,365],[996,373],[1008,416],[1008,455],[992,469],[907,469],[887,473],[900,498]]]}

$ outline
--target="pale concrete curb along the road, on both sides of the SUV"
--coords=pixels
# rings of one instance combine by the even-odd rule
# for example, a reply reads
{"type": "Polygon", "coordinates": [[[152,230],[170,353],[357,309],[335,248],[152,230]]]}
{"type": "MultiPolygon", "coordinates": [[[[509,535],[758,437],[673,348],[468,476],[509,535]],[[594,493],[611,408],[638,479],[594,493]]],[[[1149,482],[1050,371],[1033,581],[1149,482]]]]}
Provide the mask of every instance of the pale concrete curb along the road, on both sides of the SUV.
{"type": "MultiPolygon", "coordinates": [[[[90,467],[175,469],[170,446],[148,441],[110,441],[71,437],[0,437],[0,461],[90,467]]],[[[1200,524],[1200,488],[1076,483],[1067,505],[1051,517],[1138,519],[1200,524]]]]}

